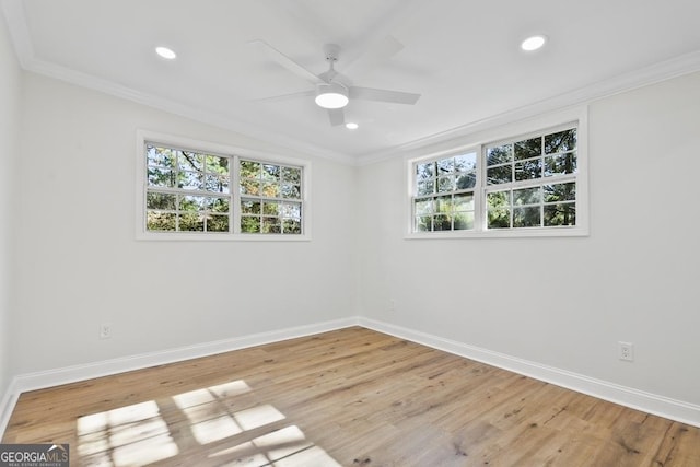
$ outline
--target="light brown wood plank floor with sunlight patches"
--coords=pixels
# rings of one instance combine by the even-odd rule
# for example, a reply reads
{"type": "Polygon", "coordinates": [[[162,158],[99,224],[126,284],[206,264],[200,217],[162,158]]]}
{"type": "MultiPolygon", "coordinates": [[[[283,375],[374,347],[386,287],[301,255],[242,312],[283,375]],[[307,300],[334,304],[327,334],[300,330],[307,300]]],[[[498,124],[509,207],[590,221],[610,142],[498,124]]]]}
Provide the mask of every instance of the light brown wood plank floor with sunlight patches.
{"type": "Polygon", "coordinates": [[[21,396],[100,466],[700,466],[700,429],[354,327],[21,396]]]}

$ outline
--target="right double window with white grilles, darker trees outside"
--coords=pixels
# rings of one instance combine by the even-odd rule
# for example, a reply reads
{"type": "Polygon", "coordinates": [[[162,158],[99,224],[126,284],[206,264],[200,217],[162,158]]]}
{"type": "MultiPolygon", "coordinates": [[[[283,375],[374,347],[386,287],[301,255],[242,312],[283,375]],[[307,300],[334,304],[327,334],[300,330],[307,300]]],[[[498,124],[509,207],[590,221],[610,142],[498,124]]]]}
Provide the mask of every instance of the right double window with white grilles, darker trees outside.
{"type": "Polygon", "coordinates": [[[573,122],[409,161],[409,237],[586,234],[579,140],[573,122]]]}

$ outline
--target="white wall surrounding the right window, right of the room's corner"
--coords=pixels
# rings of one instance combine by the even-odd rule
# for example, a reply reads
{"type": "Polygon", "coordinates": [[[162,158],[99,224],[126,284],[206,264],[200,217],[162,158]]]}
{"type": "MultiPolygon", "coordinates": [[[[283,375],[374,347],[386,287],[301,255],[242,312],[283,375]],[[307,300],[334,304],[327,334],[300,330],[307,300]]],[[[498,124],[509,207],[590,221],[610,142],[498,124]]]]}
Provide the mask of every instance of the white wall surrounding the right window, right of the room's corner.
{"type": "Polygon", "coordinates": [[[405,162],[361,167],[361,307],[700,405],[700,73],[591,103],[588,117],[588,237],[404,240],[405,162]]]}

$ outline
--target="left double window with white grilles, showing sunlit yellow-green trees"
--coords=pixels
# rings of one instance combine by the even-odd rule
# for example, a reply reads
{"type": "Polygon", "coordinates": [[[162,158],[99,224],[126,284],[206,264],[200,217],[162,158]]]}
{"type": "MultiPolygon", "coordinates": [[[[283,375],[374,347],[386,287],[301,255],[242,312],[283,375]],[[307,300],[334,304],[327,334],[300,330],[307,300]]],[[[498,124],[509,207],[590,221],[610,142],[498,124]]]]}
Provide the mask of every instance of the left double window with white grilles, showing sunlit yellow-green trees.
{"type": "Polygon", "coordinates": [[[140,238],[308,238],[308,163],[145,133],[139,147],[140,238]]]}

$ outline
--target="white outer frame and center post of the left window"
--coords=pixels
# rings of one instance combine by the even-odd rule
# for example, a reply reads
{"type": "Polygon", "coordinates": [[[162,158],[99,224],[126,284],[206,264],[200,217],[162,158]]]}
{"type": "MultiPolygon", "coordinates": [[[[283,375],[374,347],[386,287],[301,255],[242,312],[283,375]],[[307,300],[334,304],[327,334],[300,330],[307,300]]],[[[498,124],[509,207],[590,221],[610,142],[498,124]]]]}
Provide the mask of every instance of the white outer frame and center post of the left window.
{"type": "Polygon", "coordinates": [[[279,154],[231,147],[208,141],[177,137],[149,130],[137,130],[136,143],[136,238],[148,241],[257,241],[257,242],[299,242],[311,241],[311,162],[279,154]],[[230,196],[232,232],[155,232],[147,230],[145,196],[148,190],[145,144],[156,143],[164,147],[192,150],[231,157],[230,196]],[[302,233],[270,234],[241,233],[241,192],[238,187],[238,161],[296,166],[302,168],[302,233]]]}

